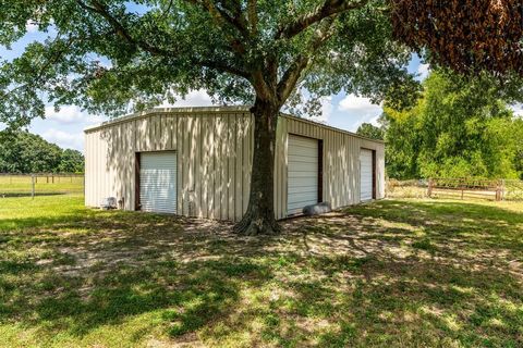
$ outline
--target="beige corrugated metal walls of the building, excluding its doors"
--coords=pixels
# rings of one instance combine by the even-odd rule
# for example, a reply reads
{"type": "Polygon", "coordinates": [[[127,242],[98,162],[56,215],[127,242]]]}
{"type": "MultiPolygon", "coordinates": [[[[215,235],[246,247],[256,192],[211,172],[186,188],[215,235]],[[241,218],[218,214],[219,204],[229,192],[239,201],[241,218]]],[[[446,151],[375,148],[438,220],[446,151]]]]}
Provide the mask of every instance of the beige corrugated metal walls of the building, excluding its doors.
{"type": "MultiPolygon", "coordinates": [[[[385,195],[384,144],[303,119],[278,121],[275,210],[287,216],[288,135],[324,140],[324,201],[333,208],[360,202],[360,149],[376,150],[377,197],[385,195]]],[[[85,132],[85,203],[104,197],[135,201],[135,152],[175,150],[178,211],[183,215],[238,221],[248,203],[253,120],[246,108],[155,110],[85,132]]]]}

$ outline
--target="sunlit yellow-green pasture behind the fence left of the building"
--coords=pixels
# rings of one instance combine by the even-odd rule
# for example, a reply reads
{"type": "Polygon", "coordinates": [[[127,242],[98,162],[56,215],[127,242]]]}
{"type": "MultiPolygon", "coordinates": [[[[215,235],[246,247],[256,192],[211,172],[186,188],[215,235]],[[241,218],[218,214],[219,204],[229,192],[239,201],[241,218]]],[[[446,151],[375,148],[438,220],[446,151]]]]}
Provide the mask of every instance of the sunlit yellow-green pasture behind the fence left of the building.
{"type": "Polygon", "coordinates": [[[0,197],[83,194],[83,174],[2,174],[0,197]]]}

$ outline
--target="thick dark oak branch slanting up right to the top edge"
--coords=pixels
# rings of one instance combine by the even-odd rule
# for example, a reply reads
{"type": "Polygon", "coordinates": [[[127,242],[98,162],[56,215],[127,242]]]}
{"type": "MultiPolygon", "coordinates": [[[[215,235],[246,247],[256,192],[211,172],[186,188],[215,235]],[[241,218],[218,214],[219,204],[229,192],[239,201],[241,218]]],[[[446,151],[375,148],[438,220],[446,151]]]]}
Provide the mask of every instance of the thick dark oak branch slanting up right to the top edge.
{"type": "Polygon", "coordinates": [[[321,22],[324,18],[341,12],[363,8],[367,2],[368,0],[326,0],[313,11],[299,16],[294,22],[280,26],[279,30],[276,33],[276,38],[290,39],[308,28],[311,25],[321,22]]]}

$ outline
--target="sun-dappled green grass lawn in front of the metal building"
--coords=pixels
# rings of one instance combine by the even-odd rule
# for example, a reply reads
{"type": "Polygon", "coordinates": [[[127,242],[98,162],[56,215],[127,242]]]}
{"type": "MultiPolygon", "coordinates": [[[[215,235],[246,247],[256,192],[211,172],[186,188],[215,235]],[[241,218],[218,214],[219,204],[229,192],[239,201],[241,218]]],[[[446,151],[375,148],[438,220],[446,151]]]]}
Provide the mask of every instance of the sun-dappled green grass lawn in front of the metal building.
{"type": "Polygon", "coordinates": [[[284,226],[0,199],[0,346],[523,346],[523,203],[385,200],[284,226]]]}

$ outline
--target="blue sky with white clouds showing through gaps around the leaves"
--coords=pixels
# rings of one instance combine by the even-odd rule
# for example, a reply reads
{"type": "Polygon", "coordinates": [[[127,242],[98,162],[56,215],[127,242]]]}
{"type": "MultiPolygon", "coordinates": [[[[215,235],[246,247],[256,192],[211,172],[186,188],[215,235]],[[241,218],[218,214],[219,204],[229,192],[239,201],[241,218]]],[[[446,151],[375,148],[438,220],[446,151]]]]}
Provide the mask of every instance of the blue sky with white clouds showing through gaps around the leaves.
{"type": "MultiPolygon", "coordinates": [[[[39,33],[36,26],[28,24],[27,34],[12,45],[11,50],[0,46],[0,60],[12,60],[19,57],[29,42],[42,40],[47,35],[49,34],[39,33]]],[[[421,62],[417,55],[413,55],[409,71],[417,74],[417,78],[422,80],[428,75],[429,66],[421,62]]],[[[208,105],[212,105],[212,102],[206,91],[194,90],[184,100],[179,100],[169,107],[208,105]]],[[[162,107],[167,107],[167,104],[162,104],[162,107]]],[[[515,105],[514,110],[523,116],[523,105],[515,105]]],[[[362,123],[376,124],[381,111],[381,107],[373,104],[368,98],[338,94],[323,100],[323,116],[320,121],[338,128],[355,132],[362,123]]],[[[75,105],[65,105],[59,111],[49,105],[46,108],[46,119],[33,120],[28,130],[62,148],[83,151],[83,129],[104,121],[107,121],[107,117],[104,115],[87,114],[75,105]]]]}

